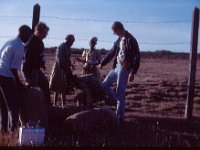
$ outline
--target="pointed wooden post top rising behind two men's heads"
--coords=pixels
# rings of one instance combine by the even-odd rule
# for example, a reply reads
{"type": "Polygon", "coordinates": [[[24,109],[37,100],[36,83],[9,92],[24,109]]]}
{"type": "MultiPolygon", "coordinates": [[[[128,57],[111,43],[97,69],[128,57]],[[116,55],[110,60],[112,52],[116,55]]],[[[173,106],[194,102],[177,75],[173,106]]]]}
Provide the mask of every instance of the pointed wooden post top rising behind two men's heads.
{"type": "Polygon", "coordinates": [[[33,7],[33,20],[32,20],[32,30],[34,31],[35,25],[40,20],[40,5],[35,4],[33,7]]]}

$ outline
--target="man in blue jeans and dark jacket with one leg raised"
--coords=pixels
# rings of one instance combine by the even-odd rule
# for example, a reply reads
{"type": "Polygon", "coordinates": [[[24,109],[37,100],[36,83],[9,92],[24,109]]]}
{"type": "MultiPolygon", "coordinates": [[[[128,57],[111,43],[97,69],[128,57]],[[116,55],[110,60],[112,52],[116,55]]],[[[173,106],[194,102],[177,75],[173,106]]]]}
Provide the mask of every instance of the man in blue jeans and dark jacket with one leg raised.
{"type": "Polygon", "coordinates": [[[123,123],[126,86],[128,81],[134,80],[134,76],[140,67],[140,50],[137,40],[125,30],[121,22],[114,22],[112,30],[118,36],[118,39],[99,67],[102,68],[114,58],[113,69],[101,85],[108,96],[111,97],[109,103],[117,103],[116,115],[123,123]],[[114,82],[117,82],[116,93],[111,89],[114,82]]]}

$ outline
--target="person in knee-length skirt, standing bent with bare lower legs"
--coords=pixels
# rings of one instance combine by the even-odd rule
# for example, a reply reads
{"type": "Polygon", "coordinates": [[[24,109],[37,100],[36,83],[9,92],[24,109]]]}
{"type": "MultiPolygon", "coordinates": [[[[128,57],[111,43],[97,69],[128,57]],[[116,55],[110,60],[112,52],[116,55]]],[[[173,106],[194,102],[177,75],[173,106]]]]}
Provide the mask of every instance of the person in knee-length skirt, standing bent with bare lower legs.
{"type": "Polygon", "coordinates": [[[54,92],[54,105],[56,105],[58,95],[61,94],[62,105],[65,105],[65,96],[72,86],[72,69],[71,64],[71,46],[75,41],[75,37],[69,34],[65,38],[65,42],[61,43],[56,49],[56,59],[50,75],[49,88],[54,92]]]}

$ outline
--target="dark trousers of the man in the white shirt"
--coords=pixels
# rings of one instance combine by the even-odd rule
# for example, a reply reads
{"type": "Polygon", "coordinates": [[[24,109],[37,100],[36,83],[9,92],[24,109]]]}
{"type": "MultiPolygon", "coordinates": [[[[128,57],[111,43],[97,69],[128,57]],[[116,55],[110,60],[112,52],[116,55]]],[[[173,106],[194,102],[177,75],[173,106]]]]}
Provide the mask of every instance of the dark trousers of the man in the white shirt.
{"type": "Polygon", "coordinates": [[[19,121],[20,93],[13,78],[0,75],[0,109],[2,130],[14,131],[19,121]]]}

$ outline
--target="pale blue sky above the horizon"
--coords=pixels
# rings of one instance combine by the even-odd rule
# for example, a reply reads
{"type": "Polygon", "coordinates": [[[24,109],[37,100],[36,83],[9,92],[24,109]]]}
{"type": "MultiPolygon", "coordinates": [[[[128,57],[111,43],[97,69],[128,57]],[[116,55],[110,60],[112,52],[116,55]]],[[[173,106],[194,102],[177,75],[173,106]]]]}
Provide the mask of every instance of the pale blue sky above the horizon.
{"type": "Polygon", "coordinates": [[[40,5],[40,21],[50,28],[45,47],[74,34],[74,48],[89,48],[89,39],[96,36],[96,48],[109,50],[117,39],[111,26],[121,21],[141,51],[174,52],[190,52],[192,13],[200,8],[200,0],[0,0],[0,47],[18,34],[20,25],[32,26],[35,4],[40,5]]]}

